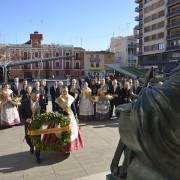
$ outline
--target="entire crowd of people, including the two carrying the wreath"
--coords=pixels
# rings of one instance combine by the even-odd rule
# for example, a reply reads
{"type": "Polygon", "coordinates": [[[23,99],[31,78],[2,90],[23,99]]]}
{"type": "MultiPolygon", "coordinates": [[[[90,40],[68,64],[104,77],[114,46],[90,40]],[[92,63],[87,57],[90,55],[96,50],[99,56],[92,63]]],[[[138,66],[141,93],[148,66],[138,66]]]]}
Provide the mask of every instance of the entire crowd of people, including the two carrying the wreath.
{"type": "MultiPolygon", "coordinates": [[[[40,162],[40,150],[35,149],[27,131],[29,124],[36,116],[47,112],[48,100],[52,103],[52,112],[60,112],[70,118],[71,142],[65,153],[84,147],[78,126],[79,121],[107,120],[114,118],[114,108],[131,102],[141,91],[139,81],[133,79],[86,78],[83,82],[72,79],[69,86],[63,81],[53,81],[48,86],[46,80],[28,83],[15,77],[11,86],[7,82],[0,89],[0,126],[11,127],[24,124],[25,139],[30,153],[35,154],[40,162]],[[50,96],[50,99],[48,98],[50,96]]],[[[56,138],[44,138],[44,141],[55,141],[56,138]]]]}

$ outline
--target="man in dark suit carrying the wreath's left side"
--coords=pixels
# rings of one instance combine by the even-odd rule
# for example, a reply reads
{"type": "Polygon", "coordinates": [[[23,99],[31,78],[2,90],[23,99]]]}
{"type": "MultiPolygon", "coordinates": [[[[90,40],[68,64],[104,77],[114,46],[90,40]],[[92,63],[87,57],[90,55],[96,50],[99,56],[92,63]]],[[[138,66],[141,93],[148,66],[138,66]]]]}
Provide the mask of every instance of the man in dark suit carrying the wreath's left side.
{"type": "MultiPolygon", "coordinates": [[[[33,91],[31,93],[31,99],[27,99],[22,102],[22,118],[25,121],[25,139],[27,144],[30,147],[30,153],[34,153],[34,146],[31,142],[29,135],[27,134],[29,124],[34,121],[35,117],[40,115],[40,106],[39,106],[39,92],[33,91]]],[[[40,150],[35,150],[35,155],[37,162],[40,163],[40,150]]]]}

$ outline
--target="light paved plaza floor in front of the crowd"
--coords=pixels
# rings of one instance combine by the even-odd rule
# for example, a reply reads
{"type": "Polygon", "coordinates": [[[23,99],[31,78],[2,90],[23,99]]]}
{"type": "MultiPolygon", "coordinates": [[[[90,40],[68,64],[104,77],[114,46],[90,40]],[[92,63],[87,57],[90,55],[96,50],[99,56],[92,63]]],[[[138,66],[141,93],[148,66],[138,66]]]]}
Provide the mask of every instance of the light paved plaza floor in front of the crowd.
{"type": "Polygon", "coordinates": [[[119,140],[117,120],[81,122],[85,148],[69,157],[42,152],[42,163],[30,155],[24,127],[0,130],[0,180],[103,180],[119,140]],[[95,175],[97,174],[97,176],[95,175]]]}

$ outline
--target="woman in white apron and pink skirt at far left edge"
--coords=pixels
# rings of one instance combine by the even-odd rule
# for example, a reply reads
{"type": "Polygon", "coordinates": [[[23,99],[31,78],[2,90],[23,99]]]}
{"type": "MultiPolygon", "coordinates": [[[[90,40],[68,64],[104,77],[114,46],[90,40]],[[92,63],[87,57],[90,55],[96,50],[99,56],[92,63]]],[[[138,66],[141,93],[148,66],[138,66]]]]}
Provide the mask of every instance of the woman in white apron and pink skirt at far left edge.
{"type": "Polygon", "coordinates": [[[20,123],[19,113],[12,97],[13,91],[8,88],[7,83],[3,83],[0,91],[0,126],[11,127],[20,123]]]}

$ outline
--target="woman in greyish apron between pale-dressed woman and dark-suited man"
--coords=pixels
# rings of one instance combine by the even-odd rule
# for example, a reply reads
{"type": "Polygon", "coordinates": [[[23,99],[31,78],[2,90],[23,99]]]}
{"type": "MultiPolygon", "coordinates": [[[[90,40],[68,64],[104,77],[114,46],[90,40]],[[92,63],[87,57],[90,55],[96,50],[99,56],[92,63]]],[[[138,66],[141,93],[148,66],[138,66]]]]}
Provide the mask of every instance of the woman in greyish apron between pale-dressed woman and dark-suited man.
{"type": "Polygon", "coordinates": [[[96,103],[96,119],[98,120],[107,120],[109,118],[110,112],[110,102],[106,97],[106,89],[104,86],[98,89],[98,101],[96,103]]]}

